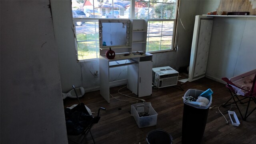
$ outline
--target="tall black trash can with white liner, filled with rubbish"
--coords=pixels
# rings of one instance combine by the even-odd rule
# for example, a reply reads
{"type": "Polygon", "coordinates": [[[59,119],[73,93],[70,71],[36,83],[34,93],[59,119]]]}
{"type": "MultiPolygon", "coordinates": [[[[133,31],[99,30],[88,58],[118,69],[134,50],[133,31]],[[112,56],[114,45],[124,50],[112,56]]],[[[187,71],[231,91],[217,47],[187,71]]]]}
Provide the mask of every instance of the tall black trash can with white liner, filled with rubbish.
{"type": "MultiPolygon", "coordinates": [[[[204,91],[189,89],[184,97],[192,96],[197,98],[202,92],[204,91]]],[[[202,141],[209,107],[212,104],[212,95],[208,96],[207,99],[210,101],[207,106],[191,104],[183,100],[182,144],[200,144],[202,141]]]]}

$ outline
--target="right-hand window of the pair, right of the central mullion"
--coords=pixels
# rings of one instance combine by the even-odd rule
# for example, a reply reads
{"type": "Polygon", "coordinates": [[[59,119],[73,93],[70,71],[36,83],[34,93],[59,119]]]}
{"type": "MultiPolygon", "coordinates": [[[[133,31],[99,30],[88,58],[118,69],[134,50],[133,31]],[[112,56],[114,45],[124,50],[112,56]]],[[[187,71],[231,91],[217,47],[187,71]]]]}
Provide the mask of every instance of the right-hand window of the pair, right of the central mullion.
{"type": "Polygon", "coordinates": [[[135,0],[135,18],[148,19],[147,52],[172,50],[176,0],[135,0]]]}

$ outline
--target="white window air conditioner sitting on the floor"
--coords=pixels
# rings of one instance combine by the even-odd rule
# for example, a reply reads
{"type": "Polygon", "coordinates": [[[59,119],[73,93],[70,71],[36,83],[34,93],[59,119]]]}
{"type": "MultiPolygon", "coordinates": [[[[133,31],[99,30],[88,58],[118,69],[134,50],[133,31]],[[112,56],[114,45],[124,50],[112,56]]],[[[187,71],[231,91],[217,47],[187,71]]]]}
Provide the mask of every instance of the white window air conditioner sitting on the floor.
{"type": "Polygon", "coordinates": [[[179,72],[177,72],[170,66],[152,68],[152,70],[153,70],[153,74],[152,74],[153,84],[157,88],[177,85],[179,72]]]}

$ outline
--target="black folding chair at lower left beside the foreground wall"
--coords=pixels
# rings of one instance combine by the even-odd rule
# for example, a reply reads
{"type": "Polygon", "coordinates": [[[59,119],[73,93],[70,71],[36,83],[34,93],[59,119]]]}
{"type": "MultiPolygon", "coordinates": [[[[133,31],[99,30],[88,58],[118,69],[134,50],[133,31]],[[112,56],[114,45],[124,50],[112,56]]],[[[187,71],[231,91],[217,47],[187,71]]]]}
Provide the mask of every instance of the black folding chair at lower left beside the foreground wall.
{"type": "MultiPolygon", "coordinates": [[[[76,93],[74,85],[72,87],[76,93]]],[[[85,106],[84,103],[80,102],[77,94],[76,94],[76,98],[78,99],[79,104],[76,106],[73,105],[74,106],[73,108],[71,107],[71,108],[65,109],[66,128],[67,128],[68,136],[80,136],[80,138],[82,138],[80,142],[76,142],[75,140],[72,140],[70,138],[68,138],[68,140],[76,144],[81,144],[89,132],[92,136],[92,133],[90,130],[94,124],[97,124],[99,122],[100,110],[106,110],[106,109],[102,107],[99,108],[98,115],[96,117],[93,117],[92,113],[88,112],[89,108],[85,106]]],[[[92,140],[95,144],[93,136],[92,136],[92,140]]]]}

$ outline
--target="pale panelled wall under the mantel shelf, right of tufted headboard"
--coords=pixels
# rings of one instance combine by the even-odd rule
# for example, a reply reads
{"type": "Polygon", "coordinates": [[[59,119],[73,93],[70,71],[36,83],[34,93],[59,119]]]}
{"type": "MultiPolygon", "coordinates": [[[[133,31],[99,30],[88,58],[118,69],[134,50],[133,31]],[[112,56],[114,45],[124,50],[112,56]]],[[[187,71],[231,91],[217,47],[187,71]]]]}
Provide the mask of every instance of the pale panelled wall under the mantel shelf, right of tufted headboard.
{"type": "Polygon", "coordinates": [[[214,17],[206,76],[222,82],[256,69],[256,17],[214,17]]]}

